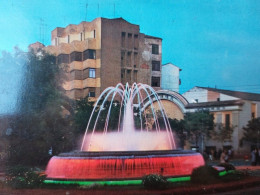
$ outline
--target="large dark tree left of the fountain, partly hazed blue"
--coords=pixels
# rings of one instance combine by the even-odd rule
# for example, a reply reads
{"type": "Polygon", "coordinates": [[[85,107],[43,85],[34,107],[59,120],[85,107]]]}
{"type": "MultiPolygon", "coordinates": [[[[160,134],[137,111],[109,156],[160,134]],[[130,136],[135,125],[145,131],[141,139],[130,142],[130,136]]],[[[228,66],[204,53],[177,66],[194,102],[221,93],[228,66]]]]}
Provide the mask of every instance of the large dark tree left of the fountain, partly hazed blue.
{"type": "Polygon", "coordinates": [[[14,131],[9,136],[9,163],[45,164],[50,151],[58,154],[71,150],[74,142],[69,117],[62,114],[66,102],[60,88],[63,70],[55,56],[43,51],[23,55],[24,79],[12,123],[14,131]]]}

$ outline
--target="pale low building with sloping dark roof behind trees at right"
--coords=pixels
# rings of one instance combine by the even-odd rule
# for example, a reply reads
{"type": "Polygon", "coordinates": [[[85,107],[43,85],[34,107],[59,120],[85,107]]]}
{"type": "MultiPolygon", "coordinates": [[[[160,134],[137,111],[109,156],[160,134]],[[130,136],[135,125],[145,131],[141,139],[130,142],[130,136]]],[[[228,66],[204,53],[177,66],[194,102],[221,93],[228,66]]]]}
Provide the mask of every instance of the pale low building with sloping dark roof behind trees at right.
{"type": "Polygon", "coordinates": [[[243,127],[249,120],[260,116],[260,94],[246,93],[215,89],[209,87],[194,87],[183,94],[189,104],[186,112],[196,110],[209,110],[214,115],[216,124],[232,126],[231,140],[223,140],[222,143],[215,140],[205,140],[207,148],[230,148],[235,154],[246,154],[250,152],[250,143],[240,145],[243,137],[243,127]]]}

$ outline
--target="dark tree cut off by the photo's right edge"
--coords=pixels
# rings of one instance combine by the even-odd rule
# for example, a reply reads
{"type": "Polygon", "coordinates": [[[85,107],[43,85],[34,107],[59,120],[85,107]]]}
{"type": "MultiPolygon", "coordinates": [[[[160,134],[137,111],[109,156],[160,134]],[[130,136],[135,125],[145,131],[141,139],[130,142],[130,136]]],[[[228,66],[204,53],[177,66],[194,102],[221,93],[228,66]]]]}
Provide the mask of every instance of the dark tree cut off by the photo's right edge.
{"type": "Polygon", "coordinates": [[[243,130],[244,134],[241,139],[241,145],[244,141],[247,141],[258,147],[260,142],[260,117],[248,121],[243,130]]]}

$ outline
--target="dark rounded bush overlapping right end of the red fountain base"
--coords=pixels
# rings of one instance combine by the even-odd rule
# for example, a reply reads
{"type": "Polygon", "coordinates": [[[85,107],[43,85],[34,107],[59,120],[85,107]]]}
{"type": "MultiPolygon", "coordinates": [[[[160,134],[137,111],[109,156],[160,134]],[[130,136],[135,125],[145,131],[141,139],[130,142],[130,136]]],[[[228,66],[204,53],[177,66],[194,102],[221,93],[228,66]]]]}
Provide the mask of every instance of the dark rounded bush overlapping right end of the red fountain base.
{"type": "Polygon", "coordinates": [[[191,182],[197,184],[209,184],[218,180],[219,173],[211,166],[201,166],[192,171],[191,182]]]}

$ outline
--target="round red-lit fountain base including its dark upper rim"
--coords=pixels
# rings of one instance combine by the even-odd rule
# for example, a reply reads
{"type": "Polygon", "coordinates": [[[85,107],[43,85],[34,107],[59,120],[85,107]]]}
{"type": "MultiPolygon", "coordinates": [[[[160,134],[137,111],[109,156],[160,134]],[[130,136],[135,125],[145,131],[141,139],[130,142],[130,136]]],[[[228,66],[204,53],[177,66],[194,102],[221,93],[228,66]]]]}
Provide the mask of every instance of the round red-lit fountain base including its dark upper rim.
{"type": "Polygon", "coordinates": [[[52,157],[45,173],[52,180],[131,180],[188,176],[204,164],[201,154],[185,150],[71,152],[52,157]]]}

